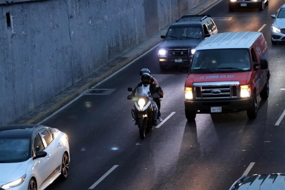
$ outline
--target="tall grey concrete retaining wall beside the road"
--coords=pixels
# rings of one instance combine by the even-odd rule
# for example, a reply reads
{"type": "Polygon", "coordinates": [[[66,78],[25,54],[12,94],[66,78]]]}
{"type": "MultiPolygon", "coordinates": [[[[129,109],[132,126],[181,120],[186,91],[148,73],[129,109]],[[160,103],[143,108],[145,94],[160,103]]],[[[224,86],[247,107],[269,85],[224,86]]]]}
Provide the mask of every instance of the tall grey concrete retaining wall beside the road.
{"type": "Polygon", "coordinates": [[[0,0],[0,125],[31,112],[202,1],[0,0]]]}

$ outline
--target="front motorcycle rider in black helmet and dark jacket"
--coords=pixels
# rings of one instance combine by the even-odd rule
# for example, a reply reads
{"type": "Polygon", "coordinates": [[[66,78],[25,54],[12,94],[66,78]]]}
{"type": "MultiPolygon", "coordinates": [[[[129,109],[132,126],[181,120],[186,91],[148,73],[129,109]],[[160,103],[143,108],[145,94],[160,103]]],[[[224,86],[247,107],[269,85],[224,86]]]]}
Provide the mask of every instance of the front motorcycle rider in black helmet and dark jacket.
{"type": "MultiPolygon", "coordinates": [[[[150,94],[157,93],[158,88],[156,87],[156,85],[154,84],[153,80],[151,79],[151,75],[148,74],[147,72],[142,74],[141,82],[137,85],[137,87],[142,86],[142,85],[144,85],[144,86],[150,85],[150,87],[149,87],[150,94]]],[[[136,88],[134,88],[134,90],[132,91],[132,95],[133,96],[136,93],[136,88]]],[[[157,126],[157,121],[156,120],[157,120],[157,114],[158,114],[158,107],[156,105],[156,102],[152,98],[150,98],[150,100],[153,103],[153,107],[154,107],[154,122],[153,122],[153,125],[157,126]]]]}

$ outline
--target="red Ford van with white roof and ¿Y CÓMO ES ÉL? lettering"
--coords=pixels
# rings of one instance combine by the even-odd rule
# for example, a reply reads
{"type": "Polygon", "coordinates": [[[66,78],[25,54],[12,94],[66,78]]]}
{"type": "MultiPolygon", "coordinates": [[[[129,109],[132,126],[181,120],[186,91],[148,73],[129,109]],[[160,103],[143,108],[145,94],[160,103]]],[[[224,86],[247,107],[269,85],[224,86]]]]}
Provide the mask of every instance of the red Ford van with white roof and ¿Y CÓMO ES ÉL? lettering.
{"type": "Polygon", "coordinates": [[[196,48],[185,82],[185,115],[246,110],[257,117],[258,101],[269,95],[268,48],[260,32],[225,32],[196,48]]]}

